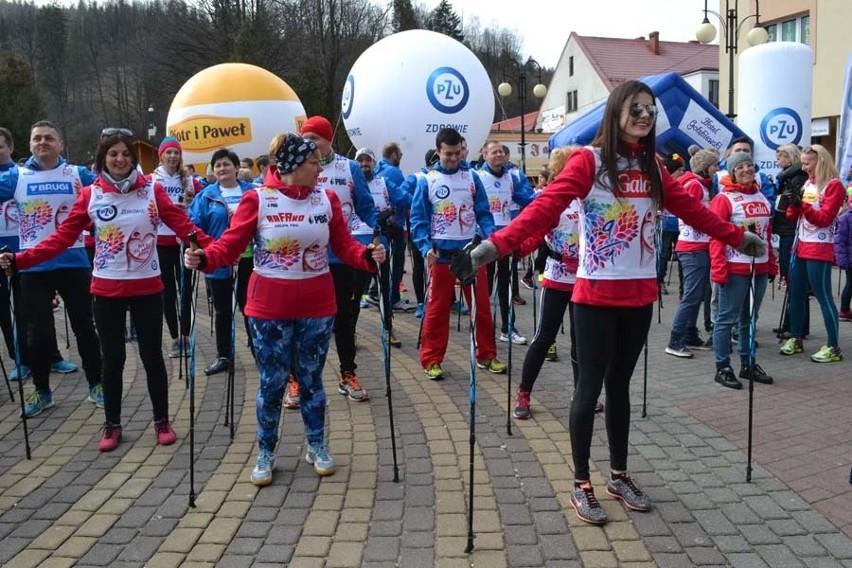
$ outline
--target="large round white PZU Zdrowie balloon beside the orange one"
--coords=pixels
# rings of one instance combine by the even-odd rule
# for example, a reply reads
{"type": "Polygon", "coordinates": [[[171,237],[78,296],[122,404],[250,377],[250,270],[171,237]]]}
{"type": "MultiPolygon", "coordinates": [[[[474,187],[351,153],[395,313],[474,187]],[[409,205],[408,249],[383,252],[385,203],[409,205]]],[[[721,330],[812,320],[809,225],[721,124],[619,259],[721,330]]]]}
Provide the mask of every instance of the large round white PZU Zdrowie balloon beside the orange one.
{"type": "Polygon", "coordinates": [[[355,146],[379,154],[386,143],[397,142],[400,167],[409,174],[423,166],[445,126],[467,139],[475,158],[494,119],[494,94],[467,47],[443,34],[409,30],[361,54],[346,79],[341,110],[355,146]]]}

